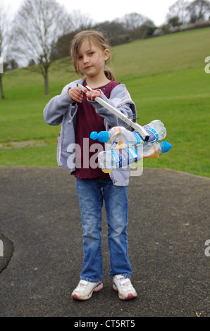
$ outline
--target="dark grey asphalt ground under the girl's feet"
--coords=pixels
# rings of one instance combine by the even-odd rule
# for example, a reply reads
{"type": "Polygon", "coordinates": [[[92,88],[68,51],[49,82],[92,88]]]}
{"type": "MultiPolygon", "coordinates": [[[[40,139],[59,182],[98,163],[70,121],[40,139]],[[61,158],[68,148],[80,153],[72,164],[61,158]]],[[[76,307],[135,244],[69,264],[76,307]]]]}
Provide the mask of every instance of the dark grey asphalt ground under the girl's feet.
{"type": "Polygon", "coordinates": [[[0,316],[209,317],[209,198],[205,177],[148,168],[130,177],[138,296],[121,301],[112,289],[103,207],[104,289],[76,301],[70,294],[80,280],[82,227],[75,177],[61,168],[0,167],[0,316]]]}

